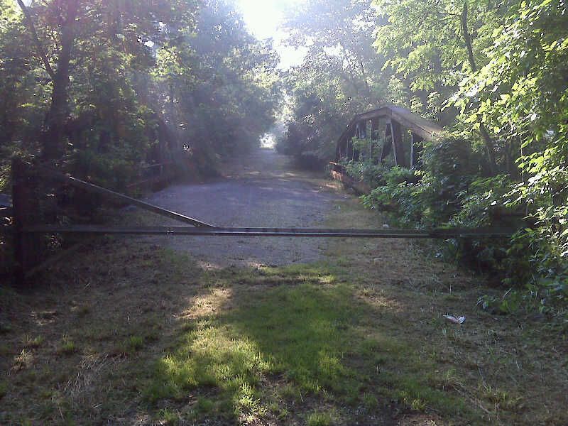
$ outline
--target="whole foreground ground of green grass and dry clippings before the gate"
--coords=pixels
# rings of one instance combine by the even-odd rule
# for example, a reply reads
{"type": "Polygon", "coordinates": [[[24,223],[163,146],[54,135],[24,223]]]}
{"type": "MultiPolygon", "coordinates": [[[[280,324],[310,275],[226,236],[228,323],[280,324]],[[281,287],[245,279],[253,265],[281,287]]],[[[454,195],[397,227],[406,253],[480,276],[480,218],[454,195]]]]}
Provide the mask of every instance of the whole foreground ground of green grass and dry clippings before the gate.
{"type": "MultiPolygon", "coordinates": [[[[381,223],[338,207],[329,226],[381,223]]],[[[0,423],[568,424],[565,324],[479,310],[485,283],[402,240],[205,270],[99,239],[1,289],[0,423]]]]}

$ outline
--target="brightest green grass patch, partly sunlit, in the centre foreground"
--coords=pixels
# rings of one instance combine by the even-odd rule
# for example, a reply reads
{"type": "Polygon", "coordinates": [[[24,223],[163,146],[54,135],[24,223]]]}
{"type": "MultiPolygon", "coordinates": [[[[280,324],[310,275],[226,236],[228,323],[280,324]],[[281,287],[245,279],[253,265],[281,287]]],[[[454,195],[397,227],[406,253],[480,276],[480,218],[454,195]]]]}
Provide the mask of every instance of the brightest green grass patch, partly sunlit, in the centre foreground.
{"type": "Polygon", "coordinates": [[[207,414],[250,419],[280,415],[282,398],[358,398],[356,371],[345,362],[357,320],[347,288],[302,283],[243,293],[238,307],[186,325],[177,350],[158,361],[151,401],[214,386],[207,414]]]}

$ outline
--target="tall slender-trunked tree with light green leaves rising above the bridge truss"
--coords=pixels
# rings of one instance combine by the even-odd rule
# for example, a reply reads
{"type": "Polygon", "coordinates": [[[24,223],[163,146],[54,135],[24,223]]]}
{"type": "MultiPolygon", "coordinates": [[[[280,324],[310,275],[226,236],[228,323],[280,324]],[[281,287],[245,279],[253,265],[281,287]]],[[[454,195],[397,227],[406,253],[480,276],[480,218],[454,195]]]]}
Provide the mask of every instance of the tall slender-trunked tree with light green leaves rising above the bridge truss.
{"type": "MultiPolygon", "coordinates": [[[[429,102],[444,102],[465,77],[487,62],[484,50],[502,21],[508,2],[491,0],[375,0],[385,25],[376,33],[376,47],[388,67],[410,80],[422,112],[429,102]]],[[[440,118],[444,119],[444,117],[440,118]]],[[[449,123],[453,116],[445,117],[449,123]]],[[[496,146],[486,125],[477,123],[491,174],[496,173],[496,146]]]]}

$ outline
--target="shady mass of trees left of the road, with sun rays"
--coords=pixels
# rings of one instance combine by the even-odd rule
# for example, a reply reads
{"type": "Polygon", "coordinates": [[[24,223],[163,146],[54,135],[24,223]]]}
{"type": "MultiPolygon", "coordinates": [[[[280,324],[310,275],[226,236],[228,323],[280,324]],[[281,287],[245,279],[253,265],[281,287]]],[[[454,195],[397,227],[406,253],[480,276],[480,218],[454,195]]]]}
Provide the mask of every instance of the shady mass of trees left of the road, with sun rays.
{"type": "Polygon", "coordinates": [[[254,146],[273,124],[277,58],[270,43],[249,35],[231,3],[67,6],[26,8],[36,38],[16,2],[0,2],[3,173],[13,153],[45,156],[49,143],[60,151],[50,159],[66,171],[124,190],[147,163],[175,160],[211,173],[214,159],[254,146]],[[57,53],[65,48],[68,60],[57,53]],[[68,82],[60,84],[67,66],[68,82]]]}

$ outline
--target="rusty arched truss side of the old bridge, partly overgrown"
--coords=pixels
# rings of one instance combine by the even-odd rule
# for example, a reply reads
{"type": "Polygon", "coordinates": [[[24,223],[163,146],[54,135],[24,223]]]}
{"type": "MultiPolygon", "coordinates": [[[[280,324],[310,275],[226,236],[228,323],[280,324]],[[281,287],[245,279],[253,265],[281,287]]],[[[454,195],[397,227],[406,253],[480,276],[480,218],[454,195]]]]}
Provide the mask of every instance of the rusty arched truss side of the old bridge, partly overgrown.
{"type": "Polygon", "coordinates": [[[406,108],[386,104],[354,116],[337,140],[336,161],[332,165],[336,173],[342,173],[336,169],[345,160],[371,158],[378,164],[391,158],[392,165],[415,168],[420,161],[422,141],[434,141],[443,131],[406,108]],[[357,148],[354,138],[368,139],[368,147],[357,148]]]}

